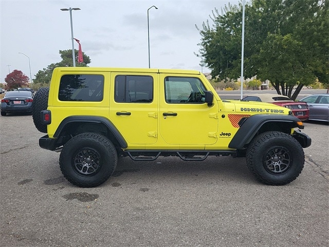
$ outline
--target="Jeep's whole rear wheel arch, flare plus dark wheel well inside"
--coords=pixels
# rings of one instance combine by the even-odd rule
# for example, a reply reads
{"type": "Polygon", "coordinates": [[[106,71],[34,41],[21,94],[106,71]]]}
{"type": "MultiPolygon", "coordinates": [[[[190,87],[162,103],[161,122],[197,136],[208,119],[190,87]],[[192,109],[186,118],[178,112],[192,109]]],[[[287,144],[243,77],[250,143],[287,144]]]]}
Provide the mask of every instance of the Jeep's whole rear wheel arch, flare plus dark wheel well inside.
{"type": "MultiPolygon", "coordinates": [[[[111,121],[104,117],[69,116],[60,123],[53,137],[60,139],[63,135],[71,134],[72,130],[77,134],[84,132],[103,134],[108,137],[115,146],[127,148],[127,143],[121,133],[111,121]]],[[[67,140],[64,142],[67,142],[67,140]]]]}

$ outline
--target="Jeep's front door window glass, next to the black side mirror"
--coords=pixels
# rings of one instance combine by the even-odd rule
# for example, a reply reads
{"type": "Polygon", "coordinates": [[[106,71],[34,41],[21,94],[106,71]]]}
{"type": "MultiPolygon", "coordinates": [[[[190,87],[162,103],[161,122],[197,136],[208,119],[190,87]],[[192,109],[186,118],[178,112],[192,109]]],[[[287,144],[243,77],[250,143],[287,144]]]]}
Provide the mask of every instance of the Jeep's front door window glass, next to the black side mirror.
{"type": "Polygon", "coordinates": [[[165,78],[165,97],[167,103],[204,103],[205,91],[205,86],[198,78],[165,78]]]}

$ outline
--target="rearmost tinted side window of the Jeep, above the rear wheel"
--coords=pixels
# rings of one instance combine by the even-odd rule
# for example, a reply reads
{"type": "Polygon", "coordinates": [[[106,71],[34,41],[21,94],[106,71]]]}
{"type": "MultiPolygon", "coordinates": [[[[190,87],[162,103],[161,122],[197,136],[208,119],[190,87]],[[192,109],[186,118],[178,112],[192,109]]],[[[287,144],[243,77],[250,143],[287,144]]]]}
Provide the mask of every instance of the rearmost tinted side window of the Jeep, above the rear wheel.
{"type": "Polygon", "coordinates": [[[61,101],[102,101],[103,75],[64,75],[58,98],[61,101]]]}

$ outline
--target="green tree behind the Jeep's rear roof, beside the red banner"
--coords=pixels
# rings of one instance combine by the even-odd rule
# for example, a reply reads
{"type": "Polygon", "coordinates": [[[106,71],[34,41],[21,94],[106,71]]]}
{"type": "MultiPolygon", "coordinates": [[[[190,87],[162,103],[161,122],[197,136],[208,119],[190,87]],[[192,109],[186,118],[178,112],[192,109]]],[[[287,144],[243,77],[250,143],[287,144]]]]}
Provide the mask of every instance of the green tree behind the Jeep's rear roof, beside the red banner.
{"type": "MultiPolygon", "coordinates": [[[[78,50],[75,50],[76,54],[76,66],[77,67],[86,67],[87,64],[91,62],[89,56],[85,55],[84,52],[82,52],[83,56],[83,63],[78,63],[78,50]]],[[[59,51],[62,61],[58,63],[52,63],[48,65],[46,68],[43,68],[42,70],[39,70],[38,73],[35,75],[35,79],[33,79],[34,83],[40,83],[40,84],[49,84],[51,80],[52,70],[56,67],[72,67],[73,61],[72,61],[72,50],[60,50],[59,51]]]]}

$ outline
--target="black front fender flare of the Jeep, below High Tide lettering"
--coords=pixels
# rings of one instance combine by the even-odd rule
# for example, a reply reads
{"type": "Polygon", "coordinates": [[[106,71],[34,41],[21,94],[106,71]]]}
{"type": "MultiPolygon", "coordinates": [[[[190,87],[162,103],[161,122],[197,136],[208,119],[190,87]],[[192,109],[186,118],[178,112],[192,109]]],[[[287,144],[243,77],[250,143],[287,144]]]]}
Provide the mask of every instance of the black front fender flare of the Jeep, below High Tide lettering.
{"type": "Polygon", "coordinates": [[[240,129],[237,130],[228,147],[243,149],[246,144],[251,142],[252,138],[257,134],[262,126],[265,125],[265,123],[280,123],[281,126],[284,125],[285,128],[289,129],[289,131],[297,127],[304,129],[304,126],[299,125],[298,122],[300,123],[301,121],[297,117],[291,115],[252,115],[248,118],[240,120],[240,129]]]}

